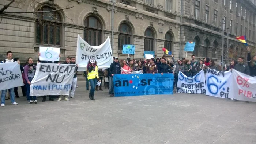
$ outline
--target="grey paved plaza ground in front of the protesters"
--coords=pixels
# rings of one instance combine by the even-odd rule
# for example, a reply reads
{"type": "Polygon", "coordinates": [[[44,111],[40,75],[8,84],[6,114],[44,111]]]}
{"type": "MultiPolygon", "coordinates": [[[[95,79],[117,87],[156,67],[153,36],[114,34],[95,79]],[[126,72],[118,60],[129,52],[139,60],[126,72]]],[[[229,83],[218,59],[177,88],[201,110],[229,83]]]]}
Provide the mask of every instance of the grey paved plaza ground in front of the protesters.
{"type": "Polygon", "coordinates": [[[0,144],[256,144],[253,102],[176,93],[109,97],[106,89],[91,101],[85,82],[78,86],[70,101],[7,100],[0,144]]]}

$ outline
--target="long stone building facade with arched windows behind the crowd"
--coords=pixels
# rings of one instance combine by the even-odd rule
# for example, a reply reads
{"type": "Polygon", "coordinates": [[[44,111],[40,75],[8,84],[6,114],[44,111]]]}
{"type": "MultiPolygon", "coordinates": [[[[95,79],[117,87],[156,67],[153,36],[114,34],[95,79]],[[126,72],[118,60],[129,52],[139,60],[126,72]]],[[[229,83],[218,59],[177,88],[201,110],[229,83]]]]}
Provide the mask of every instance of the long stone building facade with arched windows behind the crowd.
{"type": "MultiPolygon", "coordinates": [[[[61,60],[64,61],[64,57],[76,55],[78,34],[92,46],[103,43],[108,36],[111,38],[112,1],[37,1],[43,5],[13,3],[7,11],[51,11],[54,8],[74,7],[49,13],[41,12],[36,16],[33,13],[0,15],[0,59],[4,59],[5,52],[10,50],[14,52],[14,57],[20,58],[22,63],[25,63],[29,57],[38,58],[39,46],[49,46],[59,47],[61,60]]],[[[1,7],[7,2],[0,1],[1,7]]],[[[112,51],[113,55],[120,59],[127,57],[121,52],[123,44],[135,45],[135,55],[130,55],[134,59],[143,58],[144,51],[155,51],[156,57],[162,57],[163,47],[172,51],[178,59],[185,57],[183,51],[185,43],[194,41],[195,51],[188,52],[188,57],[194,53],[197,58],[208,56],[220,61],[222,26],[219,21],[224,16],[226,23],[232,21],[229,29],[230,49],[244,49],[244,46],[234,38],[241,34],[250,35],[247,36],[248,42],[252,46],[255,45],[256,0],[114,0],[114,2],[112,51]],[[242,12],[240,12],[241,7],[242,12]]]]}

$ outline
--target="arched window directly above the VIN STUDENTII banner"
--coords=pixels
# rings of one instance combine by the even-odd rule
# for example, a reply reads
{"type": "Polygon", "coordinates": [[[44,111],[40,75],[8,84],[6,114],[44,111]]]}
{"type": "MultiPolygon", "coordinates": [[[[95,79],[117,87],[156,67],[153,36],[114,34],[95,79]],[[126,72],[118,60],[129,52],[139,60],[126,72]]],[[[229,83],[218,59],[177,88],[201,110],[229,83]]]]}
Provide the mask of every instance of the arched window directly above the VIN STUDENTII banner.
{"type": "Polygon", "coordinates": [[[84,40],[91,46],[101,45],[102,27],[94,16],[88,16],[84,20],[84,40]]]}

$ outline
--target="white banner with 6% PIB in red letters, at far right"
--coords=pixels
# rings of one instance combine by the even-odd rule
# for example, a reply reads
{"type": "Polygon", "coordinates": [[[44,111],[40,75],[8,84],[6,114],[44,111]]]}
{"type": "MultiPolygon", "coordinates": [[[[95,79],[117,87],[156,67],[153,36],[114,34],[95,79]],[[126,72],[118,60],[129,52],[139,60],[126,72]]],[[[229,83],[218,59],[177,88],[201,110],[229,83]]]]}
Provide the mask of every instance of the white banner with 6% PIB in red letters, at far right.
{"type": "Polygon", "coordinates": [[[231,77],[230,95],[237,100],[256,102],[256,77],[251,77],[234,69],[231,77]]]}

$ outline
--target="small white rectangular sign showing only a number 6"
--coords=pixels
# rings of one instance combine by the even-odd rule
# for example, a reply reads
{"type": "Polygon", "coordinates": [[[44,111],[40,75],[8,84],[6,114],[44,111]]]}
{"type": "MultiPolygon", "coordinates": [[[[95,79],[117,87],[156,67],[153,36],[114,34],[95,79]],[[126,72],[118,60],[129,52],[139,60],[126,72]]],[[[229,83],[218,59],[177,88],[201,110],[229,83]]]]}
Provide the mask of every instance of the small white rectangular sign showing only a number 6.
{"type": "Polygon", "coordinates": [[[40,47],[40,60],[41,61],[60,61],[59,54],[60,48],[56,47],[40,47]]]}

